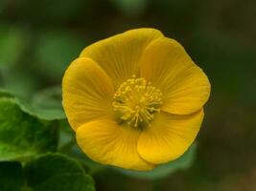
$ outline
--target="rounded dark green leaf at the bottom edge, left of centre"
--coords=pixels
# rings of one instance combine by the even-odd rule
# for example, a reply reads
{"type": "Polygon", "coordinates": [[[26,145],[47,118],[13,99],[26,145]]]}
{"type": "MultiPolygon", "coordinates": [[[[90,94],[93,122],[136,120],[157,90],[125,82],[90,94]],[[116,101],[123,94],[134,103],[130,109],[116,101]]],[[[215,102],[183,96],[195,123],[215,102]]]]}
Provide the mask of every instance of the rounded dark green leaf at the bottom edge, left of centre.
{"type": "Polygon", "coordinates": [[[94,191],[94,180],[81,163],[61,154],[45,154],[25,166],[28,185],[35,191],[94,191]]]}

